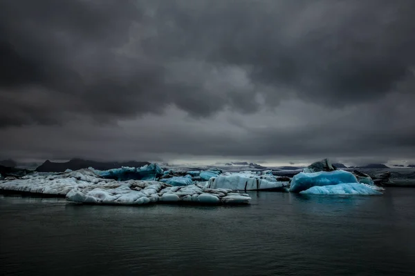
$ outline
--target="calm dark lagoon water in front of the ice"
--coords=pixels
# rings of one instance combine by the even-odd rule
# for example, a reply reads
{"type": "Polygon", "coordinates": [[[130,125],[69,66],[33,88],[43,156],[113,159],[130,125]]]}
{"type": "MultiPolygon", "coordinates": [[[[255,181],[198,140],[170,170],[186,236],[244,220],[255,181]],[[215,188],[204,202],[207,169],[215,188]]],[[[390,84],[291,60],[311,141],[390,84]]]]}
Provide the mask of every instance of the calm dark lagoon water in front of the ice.
{"type": "Polygon", "coordinates": [[[415,189],[251,193],[252,205],[0,196],[0,275],[415,275],[415,189]]]}

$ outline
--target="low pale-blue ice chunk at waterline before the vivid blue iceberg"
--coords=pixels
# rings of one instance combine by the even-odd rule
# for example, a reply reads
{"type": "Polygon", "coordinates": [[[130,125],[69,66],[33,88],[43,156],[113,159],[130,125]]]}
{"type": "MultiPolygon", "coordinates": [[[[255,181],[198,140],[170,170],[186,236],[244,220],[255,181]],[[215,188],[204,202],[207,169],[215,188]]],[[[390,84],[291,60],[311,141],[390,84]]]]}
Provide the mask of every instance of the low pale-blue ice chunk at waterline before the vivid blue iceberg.
{"type": "Polygon", "coordinates": [[[379,191],[370,188],[369,185],[360,183],[313,186],[299,193],[308,195],[382,195],[379,191]]]}

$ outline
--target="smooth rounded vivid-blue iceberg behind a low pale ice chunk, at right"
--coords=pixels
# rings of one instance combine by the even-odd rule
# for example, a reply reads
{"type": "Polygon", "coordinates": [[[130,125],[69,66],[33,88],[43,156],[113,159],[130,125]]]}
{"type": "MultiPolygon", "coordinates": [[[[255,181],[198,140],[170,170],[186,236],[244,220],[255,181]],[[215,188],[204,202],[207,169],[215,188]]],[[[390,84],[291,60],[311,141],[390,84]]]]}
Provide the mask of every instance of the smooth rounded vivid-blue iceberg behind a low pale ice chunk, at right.
{"type": "Polygon", "coordinates": [[[333,170],[332,172],[300,172],[291,181],[290,192],[299,193],[313,186],[328,186],[344,183],[358,183],[358,179],[344,170],[333,170]]]}

